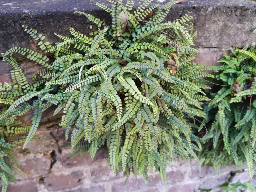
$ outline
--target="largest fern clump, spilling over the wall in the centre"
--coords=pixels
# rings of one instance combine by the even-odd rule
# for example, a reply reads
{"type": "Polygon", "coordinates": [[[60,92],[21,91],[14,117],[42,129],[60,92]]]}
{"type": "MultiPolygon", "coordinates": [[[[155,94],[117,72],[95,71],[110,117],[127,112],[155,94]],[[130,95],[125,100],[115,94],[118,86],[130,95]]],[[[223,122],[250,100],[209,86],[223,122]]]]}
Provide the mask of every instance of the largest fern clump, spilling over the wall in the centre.
{"type": "Polygon", "coordinates": [[[8,109],[0,120],[16,119],[34,109],[32,125],[24,148],[33,138],[42,113],[56,106],[63,111],[60,125],[77,153],[88,151],[92,158],[106,145],[113,171],[129,176],[148,170],[160,172],[166,182],[165,167],[174,156],[198,158],[202,149],[194,126],[203,117],[201,105],[209,100],[201,78],[212,77],[208,67],[192,62],[195,35],[191,16],[164,22],[171,6],[148,7],[144,0],[133,11],[133,1],[108,0],[112,6],[96,3],[112,16],[111,26],[84,12],[95,31],[85,35],[70,28],[69,36],[51,46],[45,36],[24,26],[38,40],[39,47],[52,58],[28,48],[15,47],[2,54],[11,64],[14,86],[1,99],[8,109]],[[26,56],[45,68],[30,83],[14,54],[26,56]],[[25,110],[26,109],[26,110],[25,110]]]}

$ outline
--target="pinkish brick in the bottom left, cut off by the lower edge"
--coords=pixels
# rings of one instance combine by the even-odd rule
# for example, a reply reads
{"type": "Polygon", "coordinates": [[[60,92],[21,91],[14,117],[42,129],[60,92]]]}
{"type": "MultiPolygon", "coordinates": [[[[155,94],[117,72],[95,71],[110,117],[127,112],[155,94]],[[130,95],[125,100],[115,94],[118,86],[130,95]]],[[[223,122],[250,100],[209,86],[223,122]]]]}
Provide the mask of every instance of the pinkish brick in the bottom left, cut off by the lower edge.
{"type": "Polygon", "coordinates": [[[11,183],[7,192],[38,192],[37,182],[37,180],[25,180],[11,183]]]}

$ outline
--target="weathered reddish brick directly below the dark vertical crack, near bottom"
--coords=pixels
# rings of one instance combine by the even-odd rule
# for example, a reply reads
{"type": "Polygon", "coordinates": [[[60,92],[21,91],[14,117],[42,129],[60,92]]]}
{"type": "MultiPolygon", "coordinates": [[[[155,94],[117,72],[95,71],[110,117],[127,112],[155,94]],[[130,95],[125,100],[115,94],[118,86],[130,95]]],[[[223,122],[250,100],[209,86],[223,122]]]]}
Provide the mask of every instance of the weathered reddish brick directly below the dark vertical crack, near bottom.
{"type": "Polygon", "coordinates": [[[44,184],[49,191],[57,191],[63,189],[74,188],[81,184],[81,179],[83,177],[82,172],[71,172],[68,175],[60,174],[44,178],[44,184]]]}

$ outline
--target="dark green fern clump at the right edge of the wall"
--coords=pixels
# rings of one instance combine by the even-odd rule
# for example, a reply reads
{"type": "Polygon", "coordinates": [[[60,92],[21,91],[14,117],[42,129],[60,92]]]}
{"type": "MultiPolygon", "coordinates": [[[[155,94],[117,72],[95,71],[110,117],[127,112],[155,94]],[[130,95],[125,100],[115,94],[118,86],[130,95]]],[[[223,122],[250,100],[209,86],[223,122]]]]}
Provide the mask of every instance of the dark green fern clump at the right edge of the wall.
{"type": "MultiPolygon", "coordinates": [[[[224,54],[216,79],[220,89],[204,108],[203,124],[209,129],[204,140],[202,160],[217,168],[226,164],[247,163],[253,176],[256,158],[256,49],[236,49],[224,54]]],[[[201,126],[202,128],[203,126],[201,126]]]]}

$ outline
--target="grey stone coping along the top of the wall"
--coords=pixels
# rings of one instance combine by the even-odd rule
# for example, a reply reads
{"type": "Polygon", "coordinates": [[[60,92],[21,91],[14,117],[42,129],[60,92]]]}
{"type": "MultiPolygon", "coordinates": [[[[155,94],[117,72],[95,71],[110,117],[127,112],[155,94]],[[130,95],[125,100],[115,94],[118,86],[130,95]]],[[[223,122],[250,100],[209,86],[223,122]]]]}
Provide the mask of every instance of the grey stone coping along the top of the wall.
{"type": "MultiPolygon", "coordinates": [[[[124,0],[125,1],[125,0],[124,0]]],[[[138,6],[139,0],[134,0],[138,6]]],[[[69,27],[86,33],[89,21],[84,16],[73,14],[84,11],[110,22],[108,13],[100,10],[95,2],[105,0],[1,0],[0,1],[0,52],[13,46],[33,47],[33,40],[23,32],[22,24],[45,34],[50,42],[58,39],[58,34],[69,34],[69,27]]],[[[154,0],[164,3],[165,0],[154,0]]],[[[253,0],[184,0],[173,6],[168,20],[184,14],[194,16],[199,48],[243,47],[256,42],[256,1],[253,0]]]]}

